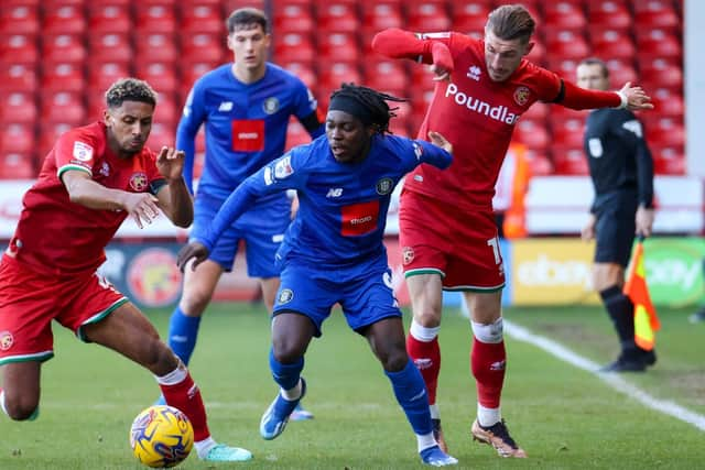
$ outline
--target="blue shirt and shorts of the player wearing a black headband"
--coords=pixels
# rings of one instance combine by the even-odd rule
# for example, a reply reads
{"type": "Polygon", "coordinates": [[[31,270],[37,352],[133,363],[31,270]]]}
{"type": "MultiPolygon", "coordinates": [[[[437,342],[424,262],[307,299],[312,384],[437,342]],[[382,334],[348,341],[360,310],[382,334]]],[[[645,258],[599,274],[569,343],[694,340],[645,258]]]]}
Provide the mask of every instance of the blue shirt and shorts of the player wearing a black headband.
{"type": "Polygon", "coordinates": [[[321,136],[248,177],[208,230],[194,239],[212,250],[258,200],[295,189],[299,211],[276,253],[282,271],[274,315],[304,314],[319,336],[323,320],[339,303],[350,327],[359,331],[401,316],[383,244],[394,187],[421,163],[444,168],[451,161],[451,154],[429,142],[376,134],[364,161],[341,163],[321,136]]]}

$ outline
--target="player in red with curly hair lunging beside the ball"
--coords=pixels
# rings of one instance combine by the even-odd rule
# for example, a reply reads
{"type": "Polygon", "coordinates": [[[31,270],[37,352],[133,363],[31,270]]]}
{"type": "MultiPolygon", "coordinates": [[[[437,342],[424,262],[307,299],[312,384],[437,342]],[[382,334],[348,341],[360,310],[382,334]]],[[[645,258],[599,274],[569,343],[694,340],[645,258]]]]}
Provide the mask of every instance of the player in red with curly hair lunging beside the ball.
{"type": "Polygon", "coordinates": [[[42,363],[54,356],[52,320],[86,342],[150,370],[166,403],[194,426],[204,460],[249,460],[217,444],[198,387],[147,317],[96,270],[129,216],[142,228],[161,209],[178,227],[193,220],[182,178],[184,153],[144,147],[156,95],[141,80],[115,83],[102,122],[62,135],[28,190],[17,230],[0,261],[0,408],[15,420],[39,412],[42,363]]]}

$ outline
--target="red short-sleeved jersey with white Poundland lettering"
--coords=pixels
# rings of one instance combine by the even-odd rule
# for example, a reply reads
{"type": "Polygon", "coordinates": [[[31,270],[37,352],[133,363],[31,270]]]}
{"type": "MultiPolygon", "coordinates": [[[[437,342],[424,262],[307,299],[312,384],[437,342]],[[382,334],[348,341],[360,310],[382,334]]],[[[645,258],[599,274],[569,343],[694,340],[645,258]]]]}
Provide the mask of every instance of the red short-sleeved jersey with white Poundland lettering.
{"type": "Polygon", "coordinates": [[[436,84],[419,139],[440,132],[453,143],[454,161],[446,171],[419,166],[404,188],[453,201],[454,207],[489,209],[516,123],[535,101],[557,97],[560,78],[522,59],[509,79],[496,83],[487,73],[484,41],[458,33],[422,39],[444,42],[455,67],[449,81],[436,84]]]}

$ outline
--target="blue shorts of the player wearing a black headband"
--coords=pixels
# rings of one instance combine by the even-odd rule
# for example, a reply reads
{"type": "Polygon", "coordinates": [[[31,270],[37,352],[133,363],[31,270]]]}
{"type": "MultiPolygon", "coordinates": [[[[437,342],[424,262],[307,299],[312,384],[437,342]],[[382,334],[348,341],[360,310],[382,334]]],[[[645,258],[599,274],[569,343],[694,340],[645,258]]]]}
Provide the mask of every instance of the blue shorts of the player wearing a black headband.
{"type": "MultiPolygon", "coordinates": [[[[369,266],[367,266],[369,267],[369,266]]],[[[335,304],[340,304],[352,330],[384,318],[401,317],[392,289],[391,270],[368,271],[365,266],[324,270],[288,263],[280,275],[273,315],[295,311],[311,318],[321,336],[321,326],[335,304]]]]}

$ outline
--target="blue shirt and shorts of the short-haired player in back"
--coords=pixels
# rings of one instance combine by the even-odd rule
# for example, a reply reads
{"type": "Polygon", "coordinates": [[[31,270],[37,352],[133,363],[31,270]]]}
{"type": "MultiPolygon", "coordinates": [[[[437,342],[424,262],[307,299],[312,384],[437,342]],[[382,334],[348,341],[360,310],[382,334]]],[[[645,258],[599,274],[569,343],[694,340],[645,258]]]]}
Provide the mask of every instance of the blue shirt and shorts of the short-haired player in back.
{"type": "MultiPolygon", "coordinates": [[[[324,131],[317,102],[306,86],[268,63],[264,76],[243,84],[223,65],[194,84],[176,132],[184,150],[184,178],[193,194],[194,140],[205,124],[206,157],[198,182],[192,237],[200,237],[218,209],[245,178],[284,152],[286,128],[295,116],[315,138],[324,131]]],[[[285,194],[261,198],[218,240],[210,259],[230,271],[240,240],[247,242],[248,274],[279,275],[274,253],[290,222],[285,194]]]]}

